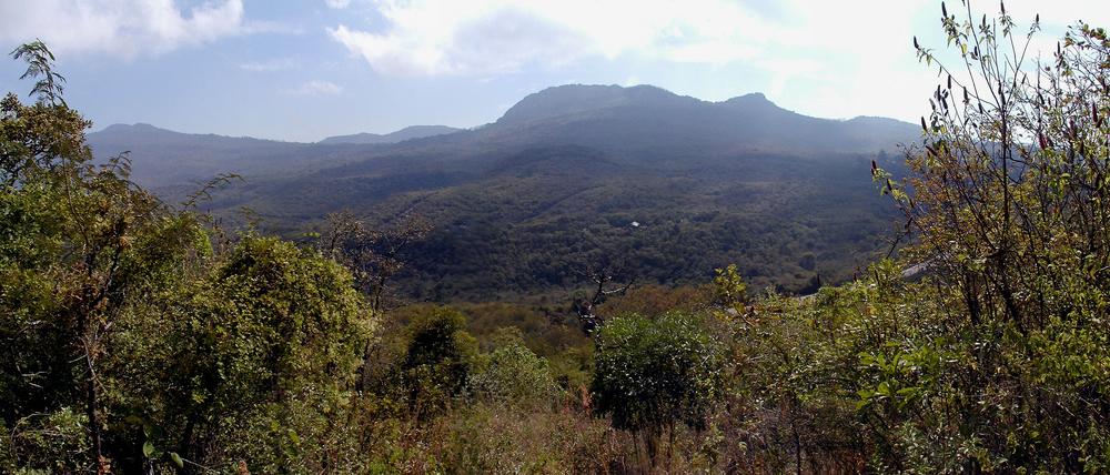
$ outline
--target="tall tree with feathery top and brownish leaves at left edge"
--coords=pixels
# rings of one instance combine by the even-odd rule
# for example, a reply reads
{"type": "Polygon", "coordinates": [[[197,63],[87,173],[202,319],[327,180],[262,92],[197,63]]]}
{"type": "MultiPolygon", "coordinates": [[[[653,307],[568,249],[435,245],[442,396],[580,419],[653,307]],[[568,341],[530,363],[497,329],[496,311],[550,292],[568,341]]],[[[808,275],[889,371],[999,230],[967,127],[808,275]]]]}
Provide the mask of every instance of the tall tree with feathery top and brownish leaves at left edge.
{"type": "Polygon", "coordinates": [[[89,122],[61,100],[46,46],[12,55],[28,62],[23,78],[40,80],[37,103],[8,94],[0,104],[0,309],[11,316],[0,330],[3,415],[13,424],[80,405],[92,465],[108,471],[105,337],[175,279],[198,228],[134,186],[125,155],[92,164],[89,122]]]}

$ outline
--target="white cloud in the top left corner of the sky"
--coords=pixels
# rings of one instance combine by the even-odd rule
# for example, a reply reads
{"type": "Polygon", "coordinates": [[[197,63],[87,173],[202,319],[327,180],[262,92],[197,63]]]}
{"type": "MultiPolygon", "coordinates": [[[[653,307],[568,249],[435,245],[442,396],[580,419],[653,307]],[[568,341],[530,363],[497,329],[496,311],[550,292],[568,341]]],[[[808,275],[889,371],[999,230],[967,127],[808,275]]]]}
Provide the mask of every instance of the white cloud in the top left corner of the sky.
{"type": "Polygon", "coordinates": [[[173,0],[36,0],[0,2],[0,42],[42,39],[57,52],[124,58],[159,54],[220,38],[280,30],[243,20],[242,0],[184,9],[173,0]]]}

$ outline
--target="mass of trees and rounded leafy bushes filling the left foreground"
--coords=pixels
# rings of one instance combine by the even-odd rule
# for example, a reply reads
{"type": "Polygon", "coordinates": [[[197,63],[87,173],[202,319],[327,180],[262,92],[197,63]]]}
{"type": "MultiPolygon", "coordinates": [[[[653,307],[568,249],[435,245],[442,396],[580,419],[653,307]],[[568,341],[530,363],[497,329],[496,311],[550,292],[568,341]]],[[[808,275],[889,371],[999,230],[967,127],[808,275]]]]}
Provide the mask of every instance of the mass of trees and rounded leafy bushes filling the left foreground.
{"type": "MultiPolygon", "coordinates": [[[[17,53],[53,78],[41,43],[17,53]]],[[[373,329],[350,272],[253,234],[215,252],[211,220],[134,185],[125,156],[93,163],[89,123],[40,87],[0,111],[2,469],[351,461],[334,428],[373,329]]]]}

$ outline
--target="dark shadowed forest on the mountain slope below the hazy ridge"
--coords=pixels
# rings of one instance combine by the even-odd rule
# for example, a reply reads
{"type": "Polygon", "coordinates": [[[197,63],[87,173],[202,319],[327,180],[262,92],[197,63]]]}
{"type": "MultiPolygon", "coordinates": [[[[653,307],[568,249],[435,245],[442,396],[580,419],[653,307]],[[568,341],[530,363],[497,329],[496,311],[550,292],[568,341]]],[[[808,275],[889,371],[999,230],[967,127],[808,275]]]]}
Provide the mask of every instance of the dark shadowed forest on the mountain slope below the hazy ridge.
{"type": "Polygon", "coordinates": [[[265,183],[259,186],[268,186],[266,194],[258,192],[250,203],[282,230],[307,226],[303,216],[340,206],[387,228],[412,209],[432,230],[412,244],[408,265],[393,282],[413,300],[452,303],[575,290],[589,283],[591,265],[606,255],[625,263],[618,282],[698,285],[714,269],[737,263],[754,289],[799,292],[818,272],[838,282],[866,266],[895,216],[859,174],[870,155],[745,154],[705,162],[650,152],[620,161],[597,155],[538,148],[475,159],[495,163],[474,168],[496,165],[497,172],[381,196],[389,186],[434,180],[406,162],[405,171],[417,175],[352,180],[323,198],[315,182],[265,183]],[[674,162],[685,168],[656,168],[674,162]],[[838,213],[827,213],[830,202],[842,203],[838,213]],[[801,266],[807,253],[815,256],[811,270],[801,266]]]}

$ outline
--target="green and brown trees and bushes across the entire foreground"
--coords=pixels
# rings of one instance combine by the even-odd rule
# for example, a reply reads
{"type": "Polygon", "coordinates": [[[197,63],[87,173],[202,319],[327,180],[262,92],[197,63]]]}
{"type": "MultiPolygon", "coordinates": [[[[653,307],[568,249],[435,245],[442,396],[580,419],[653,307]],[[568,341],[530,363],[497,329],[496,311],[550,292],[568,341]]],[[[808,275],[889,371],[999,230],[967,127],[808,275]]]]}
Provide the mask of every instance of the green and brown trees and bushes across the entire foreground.
{"type": "MultiPolygon", "coordinates": [[[[405,274],[450,256],[420,216],[291,239],[205,211],[233,173],[164,200],[93,158],[53,54],[23,44],[30,100],[0,102],[0,472],[1108,472],[1110,37],[1079,22],[1037,60],[1039,19],[939,13],[947,46],[912,40],[938,73],[920,139],[870,162],[889,252],[858,238],[869,265],[821,282],[790,241],[817,231],[787,224],[754,245],[791,255],[758,283],[745,262],[637,279],[739,235],[707,212],[647,244],[597,233],[567,301],[495,299],[532,289],[503,269],[405,274]],[[485,300],[412,297],[436,292],[485,300]]],[[[573,244],[472,238],[448,251],[573,244]]]]}

